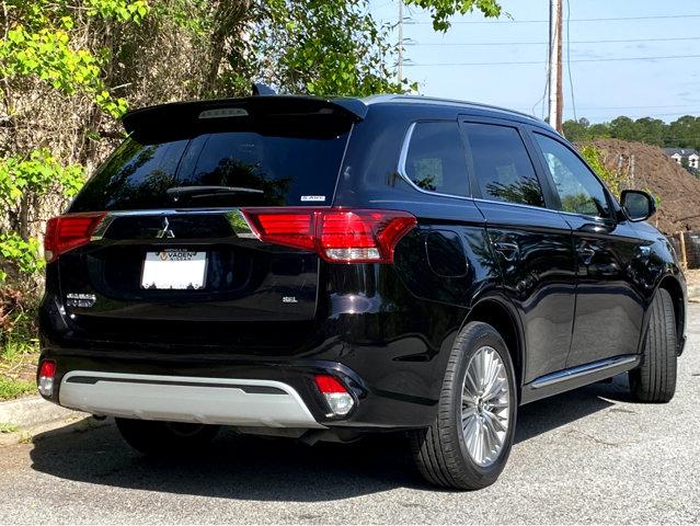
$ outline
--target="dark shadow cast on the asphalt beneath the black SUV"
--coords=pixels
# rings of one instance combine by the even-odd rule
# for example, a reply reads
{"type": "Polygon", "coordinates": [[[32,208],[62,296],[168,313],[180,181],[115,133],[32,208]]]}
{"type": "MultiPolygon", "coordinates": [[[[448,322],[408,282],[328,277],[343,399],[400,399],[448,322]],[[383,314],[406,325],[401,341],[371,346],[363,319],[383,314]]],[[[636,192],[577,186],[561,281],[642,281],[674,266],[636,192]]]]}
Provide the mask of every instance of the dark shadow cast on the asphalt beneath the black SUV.
{"type": "MultiPolygon", "coordinates": [[[[616,378],[520,408],[516,443],[615,405],[626,382],[616,378]]],[[[225,430],[196,457],[158,460],[131,450],[108,425],[44,433],[31,456],[33,469],[61,479],[237,500],[322,502],[402,487],[434,490],[415,471],[403,434],[307,447],[225,430]]]]}

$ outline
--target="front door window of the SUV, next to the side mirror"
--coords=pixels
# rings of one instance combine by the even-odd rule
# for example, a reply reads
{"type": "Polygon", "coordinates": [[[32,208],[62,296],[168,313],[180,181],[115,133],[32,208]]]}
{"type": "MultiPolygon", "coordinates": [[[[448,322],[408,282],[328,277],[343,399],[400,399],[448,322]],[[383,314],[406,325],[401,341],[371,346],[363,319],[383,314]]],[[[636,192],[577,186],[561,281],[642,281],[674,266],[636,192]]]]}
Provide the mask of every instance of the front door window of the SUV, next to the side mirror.
{"type": "Polygon", "coordinates": [[[610,217],[610,206],[600,182],[576,155],[540,134],[535,134],[547,168],[554,180],[562,210],[587,216],[610,217]]]}

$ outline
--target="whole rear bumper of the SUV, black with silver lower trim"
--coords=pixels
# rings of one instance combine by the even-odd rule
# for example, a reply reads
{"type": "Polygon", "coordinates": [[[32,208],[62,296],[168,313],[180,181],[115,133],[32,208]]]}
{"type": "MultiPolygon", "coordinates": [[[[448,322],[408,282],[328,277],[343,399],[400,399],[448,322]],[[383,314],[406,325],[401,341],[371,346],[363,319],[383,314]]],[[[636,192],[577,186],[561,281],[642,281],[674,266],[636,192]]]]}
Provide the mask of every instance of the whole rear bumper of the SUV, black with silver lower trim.
{"type": "MultiPolygon", "coordinates": [[[[437,410],[436,400],[388,391],[368,381],[377,370],[371,361],[352,369],[326,359],[251,361],[202,354],[186,359],[76,348],[45,348],[41,359],[57,364],[56,388],[47,400],[99,415],[368,432],[424,427],[437,410]],[[346,386],[355,401],[347,415],[333,415],[315,386],[318,374],[332,375],[346,386]]],[[[389,378],[404,385],[401,375],[389,378]]]]}

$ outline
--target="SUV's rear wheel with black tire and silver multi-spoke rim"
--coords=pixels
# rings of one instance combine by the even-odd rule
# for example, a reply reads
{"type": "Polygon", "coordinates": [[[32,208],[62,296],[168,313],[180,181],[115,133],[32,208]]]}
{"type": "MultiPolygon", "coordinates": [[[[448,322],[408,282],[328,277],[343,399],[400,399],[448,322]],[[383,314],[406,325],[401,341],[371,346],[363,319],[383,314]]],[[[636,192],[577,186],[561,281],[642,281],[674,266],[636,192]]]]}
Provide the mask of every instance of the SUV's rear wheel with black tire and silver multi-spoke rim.
{"type": "MultiPolygon", "coordinates": [[[[481,376],[485,377],[486,375],[481,376]]],[[[473,384],[471,385],[473,387],[473,384]]],[[[472,389],[471,391],[478,392],[479,390],[472,389]]],[[[481,395],[478,400],[481,400],[481,395]]],[[[418,471],[428,482],[445,488],[479,490],[492,484],[508,460],[515,435],[516,413],[515,371],[503,338],[486,323],[471,322],[467,324],[457,336],[447,364],[435,422],[425,430],[411,433],[411,445],[418,471]],[[472,402],[462,405],[462,395],[467,393],[464,388],[469,385],[466,381],[470,381],[466,380],[467,371],[470,370],[470,378],[479,376],[471,367],[478,366],[478,361],[482,359],[484,352],[487,359],[495,361],[495,356],[497,356],[501,364],[497,366],[498,384],[494,384],[494,387],[501,386],[500,395],[497,399],[492,398],[491,401],[495,400],[494,407],[503,405],[507,401],[506,408],[494,409],[491,402],[477,401],[477,397],[469,395],[466,395],[466,400],[472,400],[472,402]],[[473,364],[472,358],[474,359],[473,364]],[[504,391],[506,384],[507,391],[504,391]],[[471,414],[467,416],[468,431],[462,430],[462,408],[471,414]],[[483,422],[493,422],[493,416],[502,423],[502,418],[507,418],[507,428],[505,432],[498,432],[498,436],[502,437],[500,449],[493,453],[493,448],[485,448],[492,451],[491,458],[486,458],[485,464],[483,458],[481,462],[478,462],[479,455],[470,453],[470,447],[475,447],[478,442],[472,439],[468,443],[466,436],[474,437],[473,433],[486,428],[486,424],[483,422]]],[[[495,424],[490,423],[489,425],[492,430],[497,427],[495,424]]],[[[494,437],[493,434],[489,436],[494,437]]],[[[478,449],[474,453],[478,453],[478,449]]]]}

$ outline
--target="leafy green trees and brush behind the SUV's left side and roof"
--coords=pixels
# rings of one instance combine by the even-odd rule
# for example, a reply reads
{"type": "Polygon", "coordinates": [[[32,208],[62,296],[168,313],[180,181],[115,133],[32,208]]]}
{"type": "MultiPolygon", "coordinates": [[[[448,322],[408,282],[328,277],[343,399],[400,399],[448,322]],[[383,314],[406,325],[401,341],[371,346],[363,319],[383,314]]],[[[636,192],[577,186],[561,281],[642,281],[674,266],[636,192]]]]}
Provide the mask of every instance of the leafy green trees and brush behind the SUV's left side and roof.
{"type": "MultiPolygon", "coordinates": [[[[406,0],[437,31],[496,0],[406,0]]],[[[3,0],[0,259],[31,274],[43,221],[123,133],[127,107],[248,94],[368,95],[416,89],[369,0],[3,0]]]]}

